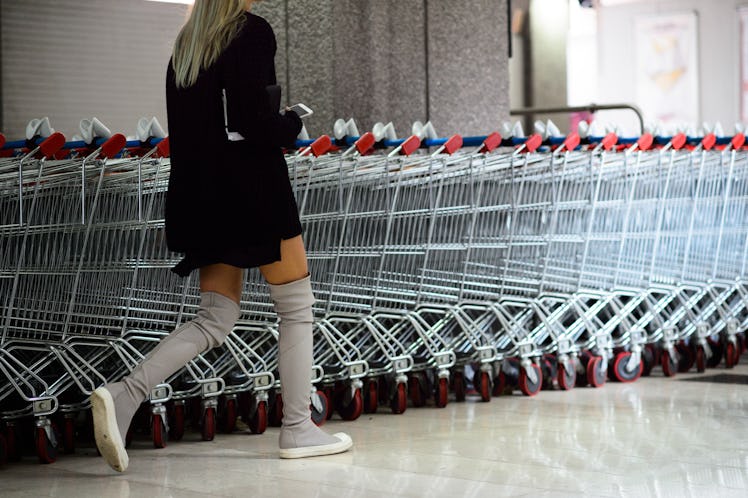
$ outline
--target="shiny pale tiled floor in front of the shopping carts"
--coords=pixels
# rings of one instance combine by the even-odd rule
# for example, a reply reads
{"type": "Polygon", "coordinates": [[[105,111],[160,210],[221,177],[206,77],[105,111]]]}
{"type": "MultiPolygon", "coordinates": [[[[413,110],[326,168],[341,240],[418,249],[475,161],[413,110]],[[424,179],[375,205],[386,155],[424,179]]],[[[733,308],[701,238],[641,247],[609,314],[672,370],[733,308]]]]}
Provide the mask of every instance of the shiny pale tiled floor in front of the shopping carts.
{"type": "Polygon", "coordinates": [[[3,498],[120,496],[748,496],[748,356],[725,373],[385,410],[326,427],[350,453],[277,458],[277,429],[162,450],[136,441],[125,474],[91,449],[0,470],[3,498]],[[742,383],[741,383],[742,382],[742,383]]]}

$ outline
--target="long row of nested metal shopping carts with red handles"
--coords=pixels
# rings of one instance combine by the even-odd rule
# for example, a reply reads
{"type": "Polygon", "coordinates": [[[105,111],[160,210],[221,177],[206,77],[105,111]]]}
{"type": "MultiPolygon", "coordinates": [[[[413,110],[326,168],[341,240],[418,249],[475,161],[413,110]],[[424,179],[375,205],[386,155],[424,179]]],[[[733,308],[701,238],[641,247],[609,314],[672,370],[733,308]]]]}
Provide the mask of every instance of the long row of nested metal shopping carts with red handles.
{"type": "MultiPolygon", "coordinates": [[[[286,157],[317,297],[316,423],[731,367],[745,349],[744,135],[335,128],[286,157]]],[[[153,135],[2,144],[0,461],[90,439],[91,392],[197,311],[195,279],[170,271],[153,135]]],[[[282,413],[276,357],[248,272],[226,343],[157,386],[133,429],[156,447],[188,422],[206,440],[263,433],[282,413]]]]}

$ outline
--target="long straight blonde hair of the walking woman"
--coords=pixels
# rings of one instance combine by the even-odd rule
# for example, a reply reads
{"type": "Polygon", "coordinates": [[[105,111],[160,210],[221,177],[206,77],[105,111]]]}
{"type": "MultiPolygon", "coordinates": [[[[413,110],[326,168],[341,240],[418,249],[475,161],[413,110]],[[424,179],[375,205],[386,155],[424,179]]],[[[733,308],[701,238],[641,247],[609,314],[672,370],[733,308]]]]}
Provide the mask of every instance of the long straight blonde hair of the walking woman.
{"type": "Polygon", "coordinates": [[[246,8],[246,0],[195,0],[174,42],[172,66],[177,88],[194,85],[200,71],[226,50],[244,26],[246,8]]]}

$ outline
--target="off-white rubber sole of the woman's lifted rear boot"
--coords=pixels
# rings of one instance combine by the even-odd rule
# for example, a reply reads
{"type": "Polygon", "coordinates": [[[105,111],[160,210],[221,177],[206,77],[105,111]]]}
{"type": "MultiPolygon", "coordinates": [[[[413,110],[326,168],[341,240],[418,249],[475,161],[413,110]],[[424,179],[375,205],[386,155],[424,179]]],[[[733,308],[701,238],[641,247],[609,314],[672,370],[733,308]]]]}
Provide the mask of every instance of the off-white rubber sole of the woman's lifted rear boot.
{"type": "Polygon", "coordinates": [[[94,436],[101,456],[111,468],[118,472],[127,470],[130,459],[117,427],[114,400],[105,388],[100,387],[91,395],[94,416],[94,436]]]}

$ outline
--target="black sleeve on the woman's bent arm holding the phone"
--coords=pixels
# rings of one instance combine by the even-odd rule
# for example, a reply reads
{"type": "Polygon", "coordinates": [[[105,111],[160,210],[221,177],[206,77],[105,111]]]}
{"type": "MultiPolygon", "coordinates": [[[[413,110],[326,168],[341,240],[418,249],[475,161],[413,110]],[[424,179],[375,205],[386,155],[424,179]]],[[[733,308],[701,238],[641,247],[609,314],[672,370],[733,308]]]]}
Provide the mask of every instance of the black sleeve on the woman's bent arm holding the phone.
{"type": "Polygon", "coordinates": [[[229,131],[241,133],[252,145],[290,146],[301,131],[296,113],[271,109],[265,87],[275,82],[274,57],[275,35],[269,25],[245,27],[226,54],[222,79],[229,131]]]}

